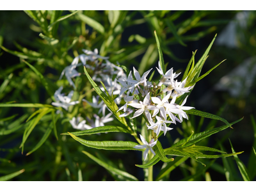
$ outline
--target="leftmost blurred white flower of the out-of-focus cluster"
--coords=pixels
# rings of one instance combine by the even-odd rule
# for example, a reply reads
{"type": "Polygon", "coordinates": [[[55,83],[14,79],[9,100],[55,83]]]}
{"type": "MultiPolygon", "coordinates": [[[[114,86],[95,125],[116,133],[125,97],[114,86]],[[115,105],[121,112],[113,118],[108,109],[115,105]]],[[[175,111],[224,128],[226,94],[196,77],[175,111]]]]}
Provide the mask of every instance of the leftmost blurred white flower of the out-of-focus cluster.
{"type": "Polygon", "coordinates": [[[57,98],[56,99],[57,102],[52,102],[53,106],[61,107],[61,108],[64,108],[64,109],[68,110],[69,106],[74,106],[75,104],[79,103],[79,100],[70,102],[71,99],[72,99],[74,91],[71,91],[70,93],[68,93],[68,96],[63,96],[63,94],[60,93],[61,90],[62,90],[62,88],[60,87],[54,93],[54,97],[57,98]]]}

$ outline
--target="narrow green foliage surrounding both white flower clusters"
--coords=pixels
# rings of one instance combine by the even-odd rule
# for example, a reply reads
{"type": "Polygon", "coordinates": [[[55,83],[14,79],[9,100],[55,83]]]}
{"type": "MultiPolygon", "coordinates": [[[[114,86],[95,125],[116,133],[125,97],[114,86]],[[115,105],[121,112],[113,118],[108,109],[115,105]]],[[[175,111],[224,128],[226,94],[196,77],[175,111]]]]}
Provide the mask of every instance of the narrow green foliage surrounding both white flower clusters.
{"type": "MultiPolygon", "coordinates": [[[[58,113],[60,114],[57,115],[57,108],[51,105],[52,101],[56,101],[54,92],[60,86],[64,86],[64,89],[68,91],[71,88],[65,77],[59,79],[61,72],[70,65],[74,57],[81,53],[81,49],[93,50],[98,48],[100,49],[100,55],[109,56],[109,61],[112,63],[119,61],[122,65],[116,66],[122,67],[127,74],[129,74],[130,65],[139,66],[138,71],[142,74],[148,68],[156,65],[158,58],[165,73],[167,64],[164,63],[164,58],[168,60],[167,56],[175,61],[184,61],[173,54],[170,45],[180,44],[186,46],[191,41],[196,41],[209,34],[212,35],[217,29],[216,26],[226,24],[228,21],[221,17],[220,19],[209,19],[208,17],[218,16],[218,12],[215,11],[191,12],[191,17],[189,16],[186,19],[181,17],[186,16],[186,11],[129,12],[114,10],[70,12],[25,11],[26,14],[23,14],[26,19],[31,20],[31,22],[28,22],[29,29],[17,29],[21,40],[13,38],[13,44],[19,51],[13,51],[14,48],[4,44],[8,38],[12,37],[12,34],[8,37],[9,34],[4,31],[6,30],[4,25],[3,34],[0,30],[0,57],[3,52],[4,54],[8,52],[20,58],[20,63],[9,66],[9,63],[6,62],[0,67],[0,79],[3,80],[0,86],[0,153],[3,151],[7,154],[6,157],[0,158],[3,163],[0,167],[0,174],[5,175],[1,176],[0,180],[11,180],[13,177],[23,173],[25,169],[26,172],[22,176],[16,177],[17,180],[45,180],[49,179],[49,177],[51,177],[51,180],[92,180],[95,179],[92,173],[96,171],[91,165],[95,163],[108,170],[115,180],[138,180],[125,171],[124,164],[128,160],[125,159],[124,163],[122,163],[119,161],[120,159],[117,160],[112,155],[105,154],[106,151],[104,150],[116,150],[115,152],[120,152],[120,154],[123,154],[124,150],[138,150],[133,147],[138,143],[143,145],[138,139],[138,132],[141,130],[141,132],[147,131],[145,121],[140,122],[135,118],[128,120],[120,117],[121,113],[116,112],[118,107],[115,104],[115,98],[111,93],[103,92],[99,88],[100,85],[93,81],[90,68],[79,70],[82,75],[80,79],[77,78],[76,90],[72,97],[72,100],[79,100],[79,104],[70,106],[68,111],[58,108],[58,113]],[[127,28],[141,26],[141,24],[146,24],[147,28],[145,30],[151,31],[147,38],[144,34],[136,34],[137,32],[134,33],[132,31],[132,34],[126,39],[124,31],[126,32],[127,28]],[[202,28],[202,26],[204,26],[204,29],[200,32],[194,33],[191,30],[198,27],[202,28]],[[191,33],[187,33],[190,30],[191,33]],[[36,34],[36,36],[26,39],[24,34],[28,33],[28,31],[36,34]],[[125,40],[132,42],[132,45],[130,43],[124,45],[123,42],[125,40]],[[140,61],[136,59],[137,56],[141,56],[140,61]],[[42,90],[47,93],[45,94],[42,90]],[[86,99],[91,100],[92,94],[94,94],[93,90],[104,100],[104,103],[118,121],[114,120],[109,123],[111,125],[72,132],[74,129],[71,128],[69,121],[74,116],[83,114],[86,118],[88,117],[88,120],[92,118],[93,109],[82,102],[82,99],[86,97],[86,99]],[[25,120],[26,122],[24,122],[25,120]],[[58,134],[60,132],[63,132],[63,134],[61,134],[59,140],[58,134]],[[102,134],[104,132],[109,134],[102,134]],[[129,137],[129,134],[134,138],[129,137]],[[83,135],[88,136],[90,139],[84,140],[77,137],[83,135]],[[122,136],[122,139],[126,141],[116,141],[116,135],[122,136]],[[17,141],[19,138],[22,138],[20,145],[16,145],[13,142],[12,148],[5,148],[5,146],[8,146],[6,144],[17,141]],[[99,140],[103,138],[104,141],[97,141],[98,138],[99,140]],[[132,139],[135,139],[138,143],[130,141],[132,139]],[[81,150],[84,147],[88,152],[83,151],[83,153],[89,158],[84,158],[84,155],[81,154],[81,150]],[[25,152],[26,156],[30,155],[31,161],[29,162],[31,163],[16,162],[15,155],[20,151],[22,153],[25,152]],[[97,157],[92,156],[95,151],[97,152],[97,157]],[[42,156],[42,154],[47,154],[47,156],[42,156]],[[117,166],[117,164],[120,166],[117,166]],[[17,170],[20,171],[16,172],[17,170]],[[31,177],[31,173],[35,173],[33,177],[31,177]]],[[[231,15],[234,15],[234,13],[231,15]]],[[[214,64],[214,67],[200,76],[215,38],[216,36],[214,36],[211,44],[196,64],[196,51],[193,52],[182,77],[182,81],[187,78],[186,86],[194,86],[223,62],[221,61],[218,65],[214,64]]],[[[149,78],[150,81],[153,76],[154,72],[149,78]]],[[[164,86],[162,86],[161,90],[163,88],[164,86]]],[[[186,95],[188,94],[177,98],[177,104],[180,104],[186,95]]],[[[241,119],[229,124],[220,115],[212,115],[195,109],[186,111],[186,113],[191,116],[189,116],[188,122],[189,131],[188,129],[183,130],[184,134],[182,136],[185,138],[174,144],[172,138],[170,138],[169,146],[171,147],[169,148],[163,148],[163,143],[160,143],[161,140],[157,141],[157,145],[154,147],[156,156],[152,157],[152,154],[150,154],[151,159],[141,165],[136,164],[136,166],[152,174],[152,166],[159,161],[163,161],[165,166],[157,175],[156,180],[168,180],[170,173],[176,167],[179,166],[182,169],[187,166],[189,167],[188,170],[193,171],[188,174],[188,177],[184,176],[183,180],[196,180],[200,175],[205,175],[205,171],[208,168],[214,167],[214,160],[209,161],[207,158],[222,157],[224,162],[224,159],[227,160],[225,157],[234,156],[243,179],[253,180],[253,177],[255,177],[255,172],[253,171],[253,167],[255,167],[255,161],[253,161],[255,159],[254,145],[252,149],[253,156],[250,156],[250,163],[247,168],[248,172],[244,164],[238,159],[237,154],[241,154],[241,152],[236,153],[232,148],[232,154],[224,154],[225,152],[222,148],[218,150],[215,147],[197,146],[199,141],[207,145],[209,136],[231,127],[241,119]],[[198,125],[198,129],[195,129],[195,124],[191,120],[194,115],[202,117],[202,122],[200,126],[198,125]],[[209,130],[205,129],[205,131],[200,132],[201,127],[204,127],[202,126],[204,118],[220,120],[227,125],[209,130]],[[195,134],[191,134],[191,131],[195,132],[195,134]],[[189,136],[189,134],[191,135],[189,136]],[[208,154],[203,154],[202,151],[206,151],[208,154]],[[221,154],[215,155],[212,152],[221,154]],[[168,158],[168,156],[177,157],[173,159],[168,158]],[[191,158],[191,164],[185,162],[189,157],[191,158]],[[199,158],[204,158],[204,161],[198,161],[199,158]],[[197,163],[202,163],[206,166],[197,166],[197,163]]],[[[147,140],[151,139],[151,133],[141,134],[147,140]]],[[[141,151],[143,152],[144,149],[141,149],[138,153],[141,153],[141,151]]],[[[127,152],[129,152],[129,155],[132,154],[132,151],[127,152]]],[[[135,152],[133,151],[133,153],[135,152]]],[[[235,180],[236,177],[230,175],[233,167],[228,164],[230,163],[225,161],[225,174],[226,176],[229,174],[227,179],[235,180]]],[[[148,178],[150,178],[150,174],[148,178]]],[[[205,177],[209,180],[211,177],[209,177],[208,173],[206,175],[205,177]]],[[[100,175],[99,180],[103,177],[106,178],[106,175],[100,175]]]]}

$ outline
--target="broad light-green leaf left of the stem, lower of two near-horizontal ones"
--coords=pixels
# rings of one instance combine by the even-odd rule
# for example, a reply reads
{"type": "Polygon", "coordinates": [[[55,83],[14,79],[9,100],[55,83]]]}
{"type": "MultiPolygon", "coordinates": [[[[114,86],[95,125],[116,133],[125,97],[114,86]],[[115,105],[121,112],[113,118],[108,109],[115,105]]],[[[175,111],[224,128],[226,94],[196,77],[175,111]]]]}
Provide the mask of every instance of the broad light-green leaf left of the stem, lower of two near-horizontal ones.
{"type": "Polygon", "coordinates": [[[74,134],[68,132],[70,136],[79,143],[85,145],[86,147],[92,147],[97,149],[104,149],[104,150],[142,150],[143,149],[136,149],[133,148],[137,143],[132,141],[88,141],[78,138],[74,136],[74,134]]]}

